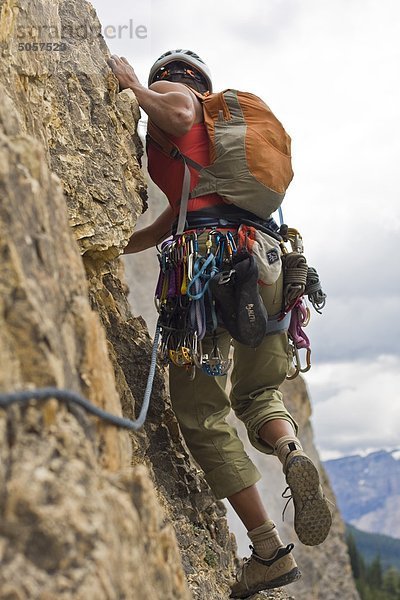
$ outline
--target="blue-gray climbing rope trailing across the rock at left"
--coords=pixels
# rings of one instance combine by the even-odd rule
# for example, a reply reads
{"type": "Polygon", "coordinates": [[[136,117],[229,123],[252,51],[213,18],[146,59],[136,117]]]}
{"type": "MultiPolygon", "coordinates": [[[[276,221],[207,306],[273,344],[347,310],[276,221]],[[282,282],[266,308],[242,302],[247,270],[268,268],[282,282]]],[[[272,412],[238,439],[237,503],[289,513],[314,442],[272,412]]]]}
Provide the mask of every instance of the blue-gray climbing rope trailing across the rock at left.
{"type": "Polygon", "coordinates": [[[0,407],[7,408],[12,404],[27,404],[30,400],[48,400],[49,398],[56,398],[57,400],[61,400],[63,402],[72,402],[74,404],[78,404],[87,412],[99,417],[111,425],[114,425],[115,427],[121,427],[122,429],[128,429],[129,431],[138,431],[143,426],[149,410],[157,362],[157,347],[159,338],[160,326],[157,323],[143,404],[140,409],[139,417],[135,421],[113,415],[105,410],[102,410],[98,406],[95,406],[89,402],[89,400],[75,392],[72,392],[71,390],[60,389],[56,387],[38,388],[36,390],[21,390],[19,392],[0,394],[0,407]]]}

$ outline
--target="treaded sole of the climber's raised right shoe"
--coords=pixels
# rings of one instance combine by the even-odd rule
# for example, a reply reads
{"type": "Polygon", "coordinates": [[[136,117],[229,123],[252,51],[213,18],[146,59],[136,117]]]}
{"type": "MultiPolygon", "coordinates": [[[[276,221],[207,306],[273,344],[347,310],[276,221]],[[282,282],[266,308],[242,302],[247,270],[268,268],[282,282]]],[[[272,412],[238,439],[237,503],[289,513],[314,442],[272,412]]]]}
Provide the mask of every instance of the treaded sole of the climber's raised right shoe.
{"type": "Polygon", "coordinates": [[[294,503],[294,529],[306,546],[326,539],[332,515],[324,497],[315,465],[306,456],[295,456],[286,470],[286,481],[294,503]]]}

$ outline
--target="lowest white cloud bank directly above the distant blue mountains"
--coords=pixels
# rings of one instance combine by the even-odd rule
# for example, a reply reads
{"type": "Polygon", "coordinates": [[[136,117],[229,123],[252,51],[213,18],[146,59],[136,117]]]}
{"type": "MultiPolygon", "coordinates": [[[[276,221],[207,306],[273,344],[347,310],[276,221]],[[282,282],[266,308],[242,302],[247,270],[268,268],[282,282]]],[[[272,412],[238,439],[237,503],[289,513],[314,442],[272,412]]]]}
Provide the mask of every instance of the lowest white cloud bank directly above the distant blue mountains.
{"type": "Polygon", "coordinates": [[[307,374],[307,384],[324,459],[399,445],[400,357],[320,365],[307,374]]]}

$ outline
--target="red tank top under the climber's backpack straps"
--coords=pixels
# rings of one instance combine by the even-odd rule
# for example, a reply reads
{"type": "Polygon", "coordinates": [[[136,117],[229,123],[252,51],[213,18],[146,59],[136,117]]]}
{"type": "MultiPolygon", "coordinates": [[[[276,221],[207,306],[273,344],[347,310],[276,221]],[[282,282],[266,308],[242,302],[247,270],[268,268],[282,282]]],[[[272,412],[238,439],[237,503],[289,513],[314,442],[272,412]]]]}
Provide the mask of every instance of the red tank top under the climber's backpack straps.
{"type": "MultiPolygon", "coordinates": [[[[182,154],[185,154],[203,167],[210,164],[208,136],[204,123],[193,125],[191,130],[181,137],[168,135],[171,142],[178,146],[182,154]]],[[[147,145],[147,168],[150,177],[156,185],[167,196],[174,213],[179,213],[181,200],[184,165],[181,160],[166,156],[151,141],[147,145]]],[[[199,174],[196,169],[190,167],[191,181],[190,191],[197,185],[199,174]]],[[[207,194],[199,198],[191,198],[188,204],[188,212],[201,210],[209,206],[225,204],[218,194],[207,194]]]]}

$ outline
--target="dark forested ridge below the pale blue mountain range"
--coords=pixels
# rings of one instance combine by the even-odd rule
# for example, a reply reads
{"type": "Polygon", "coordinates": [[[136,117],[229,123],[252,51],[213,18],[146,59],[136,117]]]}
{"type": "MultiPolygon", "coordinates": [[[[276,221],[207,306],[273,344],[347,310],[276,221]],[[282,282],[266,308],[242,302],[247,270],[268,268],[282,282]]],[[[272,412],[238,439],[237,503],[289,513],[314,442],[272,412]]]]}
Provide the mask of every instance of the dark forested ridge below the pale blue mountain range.
{"type": "Polygon", "coordinates": [[[400,540],[388,535],[360,531],[349,524],[346,524],[346,531],[353,536],[357,549],[367,564],[379,556],[383,569],[396,567],[400,571],[400,540]]]}

